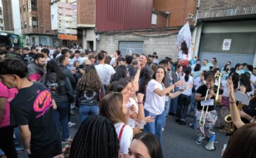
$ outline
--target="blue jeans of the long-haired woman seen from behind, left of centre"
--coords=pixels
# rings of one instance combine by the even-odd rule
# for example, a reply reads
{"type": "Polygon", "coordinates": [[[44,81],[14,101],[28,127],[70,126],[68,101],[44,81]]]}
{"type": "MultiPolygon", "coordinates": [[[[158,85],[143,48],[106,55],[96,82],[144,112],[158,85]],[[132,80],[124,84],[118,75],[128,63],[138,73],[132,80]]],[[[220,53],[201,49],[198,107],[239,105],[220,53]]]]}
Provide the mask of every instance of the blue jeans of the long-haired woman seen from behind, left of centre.
{"type": "Polygon", "coordinates": [[[79,122],[82,122],[90,117],[91,115],[96,115],[99,113],[100,109],[98,105],[79,105],[79,122]]]}

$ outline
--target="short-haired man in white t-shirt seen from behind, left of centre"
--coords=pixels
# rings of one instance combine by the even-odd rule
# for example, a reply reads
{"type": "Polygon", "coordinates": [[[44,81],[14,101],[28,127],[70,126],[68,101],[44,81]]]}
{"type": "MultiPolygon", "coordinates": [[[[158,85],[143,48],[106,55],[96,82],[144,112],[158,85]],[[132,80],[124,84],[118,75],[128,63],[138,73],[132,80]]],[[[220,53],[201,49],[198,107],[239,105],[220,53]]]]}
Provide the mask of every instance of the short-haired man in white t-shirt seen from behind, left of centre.
{"type": "Polygon", "coordinates": [[[108,85],[110,84],[110,77],[112,74],[115,74],[115,70],[111,65],[105,64],[105,55],[103,52],[98,53],[97,57],[98,65],[96,65],[95,68],[105,90],[107,90],[108,85]]]}

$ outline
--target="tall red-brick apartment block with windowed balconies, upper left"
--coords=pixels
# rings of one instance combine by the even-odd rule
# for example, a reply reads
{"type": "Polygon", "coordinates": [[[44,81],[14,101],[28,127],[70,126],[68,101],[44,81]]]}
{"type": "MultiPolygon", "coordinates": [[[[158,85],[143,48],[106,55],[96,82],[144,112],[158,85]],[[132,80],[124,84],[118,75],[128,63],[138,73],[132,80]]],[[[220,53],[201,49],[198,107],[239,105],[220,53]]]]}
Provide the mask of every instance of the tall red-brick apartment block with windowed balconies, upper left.
{"type": "Polygon", "coordinates": [[[58,37],[51,31],[50,1],[20,0],[20,20],[25,44],[53,46],[58,37]]]}

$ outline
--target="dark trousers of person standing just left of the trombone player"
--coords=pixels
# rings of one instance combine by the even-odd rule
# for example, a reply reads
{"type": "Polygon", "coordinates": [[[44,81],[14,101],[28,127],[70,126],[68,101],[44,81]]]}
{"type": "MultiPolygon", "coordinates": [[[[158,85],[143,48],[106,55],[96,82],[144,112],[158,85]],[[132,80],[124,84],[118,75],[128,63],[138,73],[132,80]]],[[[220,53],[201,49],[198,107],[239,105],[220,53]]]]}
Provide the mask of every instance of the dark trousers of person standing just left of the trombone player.
{"type": "Polygon", "coordinates": [[[181,121],[186,121],[186,112],[188,112],[188,106],[191,103],[191,96],[181,94],[178,97],[178,109],[176,118],[181,121]]]}

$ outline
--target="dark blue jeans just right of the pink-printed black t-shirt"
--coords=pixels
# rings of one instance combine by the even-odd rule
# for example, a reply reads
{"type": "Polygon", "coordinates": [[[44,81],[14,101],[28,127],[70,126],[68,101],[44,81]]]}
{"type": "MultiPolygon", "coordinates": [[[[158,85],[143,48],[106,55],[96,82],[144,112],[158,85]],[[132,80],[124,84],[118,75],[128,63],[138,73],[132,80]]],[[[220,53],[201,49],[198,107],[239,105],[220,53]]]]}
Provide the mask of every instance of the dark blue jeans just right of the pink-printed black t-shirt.
{"type": "Polygon", "coordinates": [[[69,102],[56,102],[57,110],[54,110],[54,117],[58,129],[62,133],[62,139],[70,138],[70,131],[68,129],[68,112],[70,111],[69,102]]]}

